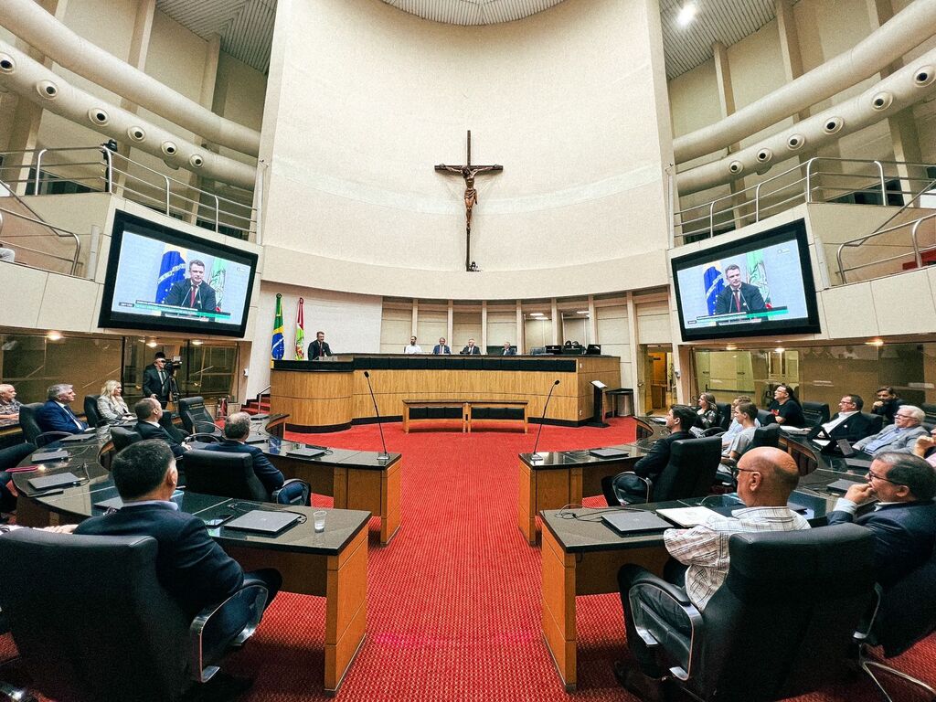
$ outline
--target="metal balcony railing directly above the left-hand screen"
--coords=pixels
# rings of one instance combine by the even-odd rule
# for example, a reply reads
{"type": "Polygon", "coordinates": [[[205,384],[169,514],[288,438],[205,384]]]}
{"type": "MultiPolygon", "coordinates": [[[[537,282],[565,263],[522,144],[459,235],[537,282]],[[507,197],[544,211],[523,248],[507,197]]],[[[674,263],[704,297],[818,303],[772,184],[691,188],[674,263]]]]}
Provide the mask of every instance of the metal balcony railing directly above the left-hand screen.
{"type": "MultiPolygon", "coordinates": [[[[152,187],[156,187],[163,194],[159,199],[160,209],[166,214],[171,214],[173,210],[172,198],[182,199],[184,202],[191,203],[197,206],[197,210],[194,214],[201,218],[202,211],[207,210],[212,211],[212,214],[205,213],[205,219],[213,219],[213,230],[215,232],[220,232],[220,227],[222,226],[221,217],[225,217],[227,226],[235,227],[250,234],[256,231],[257,223],[257,212],[256,207],[252,204],[246,204],[238,200],[231,199],[229,197],[220,196],[217,193],[213,193],[201,188],[194,187],[189,183],[171,178],[165,173],[161,173],[154,168],[150,168],[145,164],[139,163],[131,158],[124,156],[123,154],[111,152],[110,149],[101,146],[79,146],[79,147],[57,147],[57,148],[43,148],[43,149],[23,149],[17,151],[7,151],[4,152],[5,155],[10,154],[22,154],[23,156],[31,155],[31,158],[23,158],[22,164],[15,167],[5,167],[5,168],[34,168],[35,175],[32,179],[18,179],[10,180],[11,183],[23,183],[23,182],[32,182],[35,188],[35,193],[39,194],[41,185],[43,183],[43,165],[46,159],[51,154],[75,154],[80,152],[94,152],[95,154],[101,154],[104,159],[104,165],[106,166],[107,176],[102,178],[101,176],[77,176],[74,178],[64,178],[64,180],[80,183],[83,181],[93,180],[95,182],[104,181],[102,190],[104,192],[114,194],[115,190],[115,177],[123,175],[126,179],[133,179],[138,183],[145,183],[152,187]],[[129,172],[129,168],[124,166],[120,168],[117,165],[117,159],[123,159],[123,163],[127,165],[133,165],[135,168],[150,174],[154,180],[158,180],[161,184],[151,183],[139,177],[136,173],[129,172]],[[176,186],[176,190],[173,191],[173,186],[176,186]],[[178,192],[179,189],[184,189],[185,191],[194,191],[196,194],[194,197],[186,197],[178,192]],[[213,202],[213,208],[212,203],[213,202]],[[222,209],[225,207],[225,209],[222,209]],[[246,214],[241,214],[236,211],[244,211],[246,214]],[[231,221],[233,220],[233,221],[231,221]]],[[[51,166],[46,166],[46,168],[72,168],[72,167],[88,167],[88,166],[99,166],[99,161],[77,161],[77,162],[64,162],[64,163],[54,163],[51,166]]],[[[51,171],[50,171],[51,172],[51,171]]],[[[155,201],[155,198],[140,192],[139,187],[130,187],[124,183],[124,190],[132,193],[134,196],[143,197],[151,201],[155,201]]],[[[246,193],[247,191],[245,191],[246,193]]],[[[182,210],[182,208],[177,208],[181,212],[187,212],[182,210]]]]}

